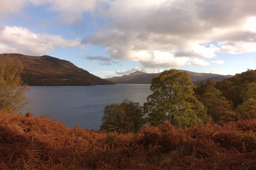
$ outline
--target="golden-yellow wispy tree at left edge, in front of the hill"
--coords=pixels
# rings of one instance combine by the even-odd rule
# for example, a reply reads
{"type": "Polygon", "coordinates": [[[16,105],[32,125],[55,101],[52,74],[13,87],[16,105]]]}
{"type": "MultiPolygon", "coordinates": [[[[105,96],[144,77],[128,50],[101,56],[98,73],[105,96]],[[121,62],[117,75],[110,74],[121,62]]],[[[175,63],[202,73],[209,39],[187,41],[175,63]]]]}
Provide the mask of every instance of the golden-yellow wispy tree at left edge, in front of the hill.
{"type": "Polygon", "coordinates": [[[28,90],[22,86],[20,62],[7,57],[1,57],[0,62],[0,110],[17,112],[28,103],[24,92],[28,90]]]}

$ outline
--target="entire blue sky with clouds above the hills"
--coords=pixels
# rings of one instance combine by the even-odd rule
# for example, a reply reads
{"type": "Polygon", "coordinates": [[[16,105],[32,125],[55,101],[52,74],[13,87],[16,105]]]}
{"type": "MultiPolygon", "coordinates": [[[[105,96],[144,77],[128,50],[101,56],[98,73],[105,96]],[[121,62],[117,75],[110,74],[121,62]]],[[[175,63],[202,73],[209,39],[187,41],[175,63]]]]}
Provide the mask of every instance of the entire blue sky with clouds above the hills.
{"type": "Polygon", "coordinates": [[[0,53],[51,55],[101,78],[256,69],[255,0],[1,0],[0,53]]]}

